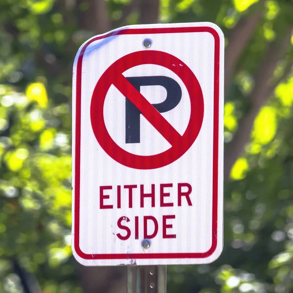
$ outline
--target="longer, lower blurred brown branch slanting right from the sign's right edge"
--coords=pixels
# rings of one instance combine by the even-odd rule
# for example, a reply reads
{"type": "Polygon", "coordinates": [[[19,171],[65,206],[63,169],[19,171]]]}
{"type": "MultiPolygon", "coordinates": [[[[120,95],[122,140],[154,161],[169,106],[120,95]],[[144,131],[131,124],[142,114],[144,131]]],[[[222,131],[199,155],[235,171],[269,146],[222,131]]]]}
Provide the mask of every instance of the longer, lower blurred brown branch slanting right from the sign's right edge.
{"type": "MultiPolygon", "coordinates": [[[[277,85],[276,82],[270,84],[270,79],[273,76],[278,61],[281,60],[286,53],[288,45],[290,44],[291,33],[292,27],[288,28],[282,42],[276,40],[269,45],[265,58],[259,66],[255,76],[255,85],[250,95],[251,111],[247,116],[241,119],[236,135],[225,150],[225,180],[229,179],[232,165],[242,153],[244,146],[250,140],[254,119],[258,114],[260,107],[269,99],[273,89],[277,85]]],[[[291,67],[288,66],[288,68],[285,69],[284,74],[288,74],[290,71],[291,67]]]]}

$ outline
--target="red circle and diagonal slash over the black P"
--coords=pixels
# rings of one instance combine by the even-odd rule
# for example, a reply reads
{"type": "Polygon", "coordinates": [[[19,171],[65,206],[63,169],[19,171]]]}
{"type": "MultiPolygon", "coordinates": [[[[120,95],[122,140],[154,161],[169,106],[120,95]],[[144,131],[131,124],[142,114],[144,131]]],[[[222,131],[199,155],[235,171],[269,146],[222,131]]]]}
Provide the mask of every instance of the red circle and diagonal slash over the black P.
{"type": "Polygon", "coordinates": [[[155,169],[167,166],[179,159],[196,140],[204,117],[204,99],[200,84],[191,69],[177,57],[161,51],[130,53],[111,64],[97,82],[93,91],[90,118],[95,137],[105,152],[116,162],[136,169],[155,169]],[[151,105],[123,75],[137,65],[154,64],[174,72],[185,84],[190,99],[190,118],[183,135],[151,105]],[[162,153],[142,156],[132,154],[118,146],[109,135],[104,119],[104,104],[109,87],[113,84],[156,128],[171,147],[162,153]]]}

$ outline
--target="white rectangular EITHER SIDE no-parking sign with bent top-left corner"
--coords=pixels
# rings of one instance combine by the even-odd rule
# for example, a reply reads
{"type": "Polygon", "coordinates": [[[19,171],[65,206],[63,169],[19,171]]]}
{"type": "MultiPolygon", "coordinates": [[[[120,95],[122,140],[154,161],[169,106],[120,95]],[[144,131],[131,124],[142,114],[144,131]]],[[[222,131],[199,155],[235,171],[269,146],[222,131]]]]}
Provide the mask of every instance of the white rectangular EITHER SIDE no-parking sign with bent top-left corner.
{"type": "Polygon", "coordinates": [[[213,23],[127,26],[82,45],[72,123],[80,263],[204,264],[220,255],[223,84],[224,37],[213,23]]]}

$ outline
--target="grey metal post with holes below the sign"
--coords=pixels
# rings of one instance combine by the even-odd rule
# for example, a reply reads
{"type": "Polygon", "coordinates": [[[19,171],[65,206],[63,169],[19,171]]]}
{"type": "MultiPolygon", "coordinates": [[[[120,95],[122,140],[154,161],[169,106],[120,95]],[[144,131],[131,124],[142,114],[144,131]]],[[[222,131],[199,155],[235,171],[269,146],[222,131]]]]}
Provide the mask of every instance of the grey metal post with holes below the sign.
{"type": "Polygon", "coordinates": [[[167,266],[128,266],[127,293],[166,293],[167,266]]]}

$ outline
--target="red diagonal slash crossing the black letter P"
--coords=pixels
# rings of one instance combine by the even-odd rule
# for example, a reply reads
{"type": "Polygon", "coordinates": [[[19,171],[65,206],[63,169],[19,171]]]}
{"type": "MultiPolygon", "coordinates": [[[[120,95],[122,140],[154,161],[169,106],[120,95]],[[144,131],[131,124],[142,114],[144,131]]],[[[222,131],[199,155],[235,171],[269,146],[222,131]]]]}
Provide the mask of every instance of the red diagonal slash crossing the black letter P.
{"type": "Polygon", "coordinates": [[[171,146],[178,144],[182,138],[179,132],[127,81],[125,76],[122,74],[116,76],[113,85],[142,112],[146,120],[161,133],[171,146]]]}

